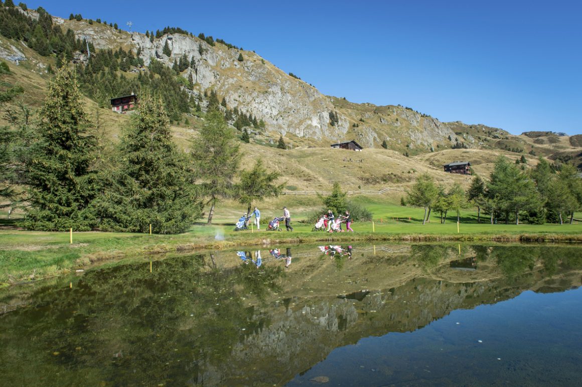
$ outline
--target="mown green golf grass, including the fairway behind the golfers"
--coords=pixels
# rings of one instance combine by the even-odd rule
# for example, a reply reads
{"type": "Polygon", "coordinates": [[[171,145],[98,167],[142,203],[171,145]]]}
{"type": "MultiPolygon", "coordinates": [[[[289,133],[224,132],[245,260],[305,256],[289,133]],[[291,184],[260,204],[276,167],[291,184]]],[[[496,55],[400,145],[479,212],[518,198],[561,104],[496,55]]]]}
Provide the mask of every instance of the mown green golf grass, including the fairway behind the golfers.
{"type": "MultiPolygon", "coordinates": [[[[350,198],[372,212],[373,222],[356,222],[354,233],[313,232],[313,224],[301,221],[308,213],[321,209],[321,202],[292,196],[273,199],[262,206],[263,214],[279,215],[282,203],[292,210],[293,232],[233,231],[240,205],[222,203],[217,208],[217,223],[193,225],[179,235],[148,235],[114,232],[74,232],[70,243],[68,232],[0,230],[0,284],[13,284],[30,279],[47,278],[76,268],[107,261],[134,259],[166,252],[237,248],[279,243],[343,242],[343,241],[571,241],[582,242],[582,224],[489,224],[486,217],[478,224],[474,211],[463,211],[457,232],[456,215],[445,224],[436,214],[422,224],[423,209],[403,207],[382,196],[350,198]],[[300,208],[293,212],[294,207],[300,208]]],[[[580,217],[580,214],[577,214],[580,217]]],[[[270,215],[265,218],[270,218],[270,215]]],[[[14,225],[13,220],[0,219],[0,224],[14,225]]],[[[282,225],[283,229],[285,228],[282,225]]],[[[345,227],[344,227],[345,228],[345,227]]]]}

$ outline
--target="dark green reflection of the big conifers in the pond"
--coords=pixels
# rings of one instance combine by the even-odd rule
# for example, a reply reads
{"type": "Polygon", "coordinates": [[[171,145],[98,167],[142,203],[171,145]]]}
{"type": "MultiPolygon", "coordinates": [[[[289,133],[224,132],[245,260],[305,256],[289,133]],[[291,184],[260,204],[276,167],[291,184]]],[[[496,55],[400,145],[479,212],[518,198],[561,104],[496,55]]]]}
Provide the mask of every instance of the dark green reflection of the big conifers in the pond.
{"type": "Polygon", "coordinates": [[[88,271],[73,289],[41,289],[34,308],[0,320],[0,331],[10,332],[6,348],[19,352],[15,359],[0,350],[17,361],[3,361],[0,374],[31,385],[55,372],[72,384],[79,381],[74,370],[83,370],[88,384],[200,382],[200,367],[223,364],[244,335],[269,325],[242,298],[280,291],[283,273],[246,265],[218,270],[207,258],[155,261],[152,273],[144,264],[88,271]],[[20,364],[34,372],[22,375],[20,364]]]}

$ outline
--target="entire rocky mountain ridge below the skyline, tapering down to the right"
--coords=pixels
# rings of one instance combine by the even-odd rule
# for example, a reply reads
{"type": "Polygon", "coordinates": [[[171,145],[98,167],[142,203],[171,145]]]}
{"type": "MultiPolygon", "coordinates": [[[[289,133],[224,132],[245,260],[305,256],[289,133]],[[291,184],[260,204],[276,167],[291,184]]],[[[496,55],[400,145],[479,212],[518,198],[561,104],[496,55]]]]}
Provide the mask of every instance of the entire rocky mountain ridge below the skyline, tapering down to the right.
{"type": "MultiPolygon", "coordinates": [[[[35,10],[22,10],[38,19],[35,10]]],[[[344,98],[321,94],[313,85],[246,51],[218,41],[208,41],[186,31],[184,33],[146,36],[128,33],[93,20],[66,20],[53,17],[53,24],[63,31],[72,30],[77,38],[84,38],[96,49],[123,48],[143,59],[144,66],[132,67],[130,76],[147,73],[148,64],[158,60],[166,66],[181,58],[190,63],[179,76],[191,77],[193,87],[183,86],[192,96],[215,91],[229,109],[252,114],[265,123],[265,130],[273,137],[279,134],[299,138],[301,144],[321,146],[330,141],[355,140],[364,148],[397,150],[406,155],[435,152],[447,148],[489,148],[510,152],[543,154],[538,151],[540,139],[534,143],[527,136],[512,136],[508,132],[483,125],[460,122],[443,123],[435,117],[416,112],[400,105],[376,106],[371,103],[352,103],[344,98]],[[508,142],[509,141],[509,142],[508,142]]],[[[0,58],[13,63],[28,60],[33,71],[46,75],[52,58],[29,55],[23,42],[0,37],[0,58]]],[[[86,57],[76,53],[75,62],[86,57]]],[[[112,98],[108,96],[107,98],[112,98]]],[[[543,147],[542,147],[543,148],[543,147]]]]}

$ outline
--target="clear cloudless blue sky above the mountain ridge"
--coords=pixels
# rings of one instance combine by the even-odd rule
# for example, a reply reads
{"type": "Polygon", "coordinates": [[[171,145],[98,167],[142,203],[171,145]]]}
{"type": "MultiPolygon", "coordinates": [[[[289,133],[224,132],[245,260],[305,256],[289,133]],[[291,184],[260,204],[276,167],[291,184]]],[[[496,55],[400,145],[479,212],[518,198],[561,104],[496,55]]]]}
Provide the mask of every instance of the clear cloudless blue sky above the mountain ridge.
{"type": "MultiPolygon", "coordinates": [[[[18,1],[15,0],[15,3],[18,1]]],[[[327,95],[582,134],[582,1],[26,1],[254,50],[327,95]]]]}

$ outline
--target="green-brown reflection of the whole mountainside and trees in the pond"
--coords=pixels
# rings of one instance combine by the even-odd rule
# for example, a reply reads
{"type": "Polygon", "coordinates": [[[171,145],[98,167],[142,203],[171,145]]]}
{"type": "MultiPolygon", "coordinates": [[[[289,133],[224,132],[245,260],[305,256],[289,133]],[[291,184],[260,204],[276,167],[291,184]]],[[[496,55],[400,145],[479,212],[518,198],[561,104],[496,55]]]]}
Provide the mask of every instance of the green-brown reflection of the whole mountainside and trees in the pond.
{"type": "Polygon", "coordinates": [[[281,384],[361,338],[414,331],[527,289],[580,286],[582,268],[580,249],[555,246],[462,254],[456,245],[395,253],[354,246],[349,260],[313,249],[293,248],[289,268],[268,259],[245,265],[225,252],[158,261],[153,273],[143,265],[95,270],[72,291],[21,294],[30,307],[0,316],[0,356],[22,359],[0,373],[56,368],[65,384],[78,384],[80,370],[84,381],[115,384],[281,384]],[[467,260],[476,270],[454,267],[467,260]]]}

